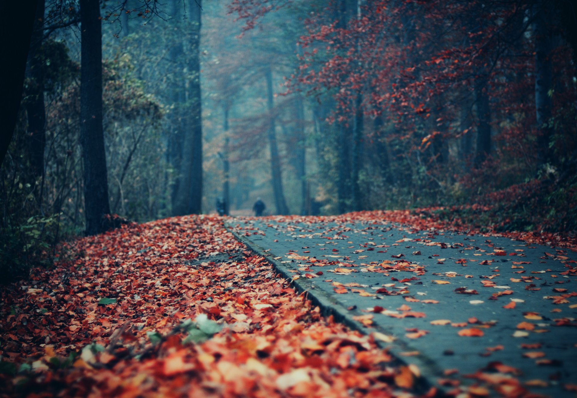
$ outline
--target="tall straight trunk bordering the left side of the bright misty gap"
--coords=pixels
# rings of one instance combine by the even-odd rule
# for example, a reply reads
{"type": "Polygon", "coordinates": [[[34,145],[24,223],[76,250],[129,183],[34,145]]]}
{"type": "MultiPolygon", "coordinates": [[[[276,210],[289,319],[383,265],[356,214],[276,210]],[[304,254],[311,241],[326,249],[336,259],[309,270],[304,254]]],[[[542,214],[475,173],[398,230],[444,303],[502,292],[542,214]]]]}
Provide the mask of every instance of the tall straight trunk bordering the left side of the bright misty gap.
{"type": "Polygon", "coordinates": [[[202,0],[189,0],[190,20],[192,22],[189,41],[188,73],[188,134],[192,138],[192,165],[190,176],[190,214],[203,211],[203,121],[200,89],[200,27],[202,0]]]}

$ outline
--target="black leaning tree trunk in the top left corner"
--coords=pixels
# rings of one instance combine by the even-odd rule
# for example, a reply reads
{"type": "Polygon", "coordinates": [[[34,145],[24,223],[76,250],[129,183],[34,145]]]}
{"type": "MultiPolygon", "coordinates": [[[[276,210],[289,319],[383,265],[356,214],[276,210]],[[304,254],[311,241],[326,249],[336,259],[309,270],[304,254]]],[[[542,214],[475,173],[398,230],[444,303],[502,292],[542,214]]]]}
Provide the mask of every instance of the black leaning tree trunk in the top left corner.
{"type": "Polygon", "coordinates": [[[10,58],[10,62],[3,62],[4,77],[0,79],[0,165],[16,126],[37,6],[37,0],[0,3],[0,54],[10,58]]]}

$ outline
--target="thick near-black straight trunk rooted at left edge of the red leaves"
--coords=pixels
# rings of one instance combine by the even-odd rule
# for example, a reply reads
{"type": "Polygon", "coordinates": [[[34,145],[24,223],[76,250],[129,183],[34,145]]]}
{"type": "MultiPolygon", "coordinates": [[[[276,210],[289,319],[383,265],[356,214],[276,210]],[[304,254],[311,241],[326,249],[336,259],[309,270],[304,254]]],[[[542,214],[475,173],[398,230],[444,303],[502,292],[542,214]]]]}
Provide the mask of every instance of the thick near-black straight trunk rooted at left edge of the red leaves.
{"type": "Polygon", "coordinates": [[[86,234],[104,232],[110,214],[102,130],[102,26],[99,2],[80,0],[80,142],[84,161],[86,234]]]}

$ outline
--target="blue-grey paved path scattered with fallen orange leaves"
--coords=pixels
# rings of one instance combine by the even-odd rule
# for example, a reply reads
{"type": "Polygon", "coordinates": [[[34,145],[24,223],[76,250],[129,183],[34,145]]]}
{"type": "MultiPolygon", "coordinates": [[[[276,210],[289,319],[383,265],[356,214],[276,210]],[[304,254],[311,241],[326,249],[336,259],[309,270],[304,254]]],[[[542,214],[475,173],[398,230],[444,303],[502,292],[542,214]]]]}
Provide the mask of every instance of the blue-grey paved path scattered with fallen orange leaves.
{"type": "Polygon", "coordinates": [[[519,378],[575,396],[577,253],[387,221],[237,218],[228,226],[338,320],[435,385],[519,378]]]}

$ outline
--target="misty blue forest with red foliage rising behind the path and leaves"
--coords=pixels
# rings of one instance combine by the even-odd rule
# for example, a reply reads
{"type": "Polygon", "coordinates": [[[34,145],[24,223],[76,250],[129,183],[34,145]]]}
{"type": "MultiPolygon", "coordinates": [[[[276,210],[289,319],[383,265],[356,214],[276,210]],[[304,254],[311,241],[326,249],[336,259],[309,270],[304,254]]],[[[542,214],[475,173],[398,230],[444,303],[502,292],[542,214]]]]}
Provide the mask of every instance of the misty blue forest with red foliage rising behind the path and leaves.
{"type": "Polygon", "coordinates": [[[577,226],[571,1],[35,9],[16,128],[2,139],[4,272],[126,220],[212,213],[218,197],[233,215],[260,196],[269,214],[577,226]]]}

